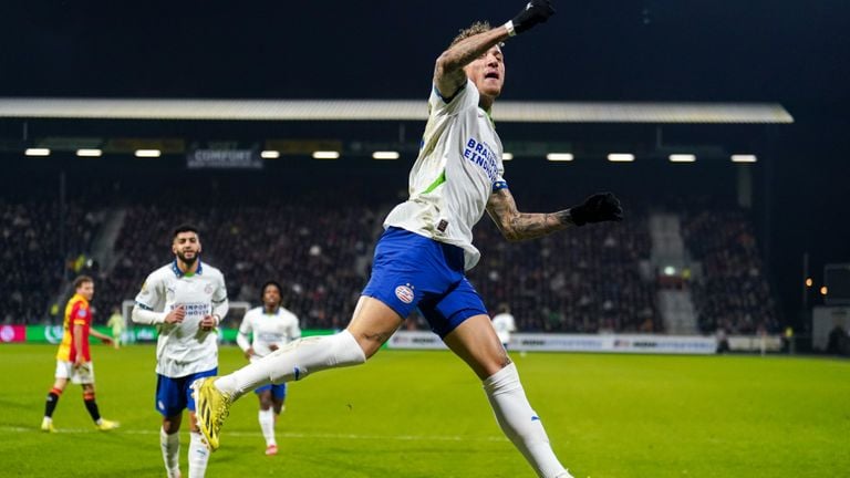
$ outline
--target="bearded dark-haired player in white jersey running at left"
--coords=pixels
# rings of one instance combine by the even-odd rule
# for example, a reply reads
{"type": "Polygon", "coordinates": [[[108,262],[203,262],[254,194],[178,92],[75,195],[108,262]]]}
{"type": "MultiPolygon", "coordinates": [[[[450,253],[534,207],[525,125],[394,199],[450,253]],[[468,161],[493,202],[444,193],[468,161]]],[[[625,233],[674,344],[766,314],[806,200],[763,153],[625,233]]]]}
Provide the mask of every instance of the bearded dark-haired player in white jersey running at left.
{"type": "Polygon", "coordinates": [[[169,477],[179,477],[180,422],[189,409],[189,478],[206,474],[209,450],[203,444],[195,417],[194,381],[218,373],[217,326],[227,314],[225,277],[200,261],[198,230],[175,229],[174,261],[152,272],[136,295],[133,322],[155,324],[156,409],[163,415],[159,445],[169,477]]]}

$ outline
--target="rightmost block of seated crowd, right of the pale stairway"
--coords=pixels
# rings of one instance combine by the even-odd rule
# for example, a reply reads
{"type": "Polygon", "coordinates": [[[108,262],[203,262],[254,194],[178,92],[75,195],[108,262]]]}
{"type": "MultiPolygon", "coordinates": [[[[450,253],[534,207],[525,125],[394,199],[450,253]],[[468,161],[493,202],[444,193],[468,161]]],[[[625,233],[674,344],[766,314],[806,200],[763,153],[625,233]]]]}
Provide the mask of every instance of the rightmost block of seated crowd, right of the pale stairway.
{"type": "Polygon", "coordinates": [[[703,263],[704,278],[693,287],[702,331],[778,332],[776,302],[746,212],[703,209],[682,217],[685,245],[703,263]]]}

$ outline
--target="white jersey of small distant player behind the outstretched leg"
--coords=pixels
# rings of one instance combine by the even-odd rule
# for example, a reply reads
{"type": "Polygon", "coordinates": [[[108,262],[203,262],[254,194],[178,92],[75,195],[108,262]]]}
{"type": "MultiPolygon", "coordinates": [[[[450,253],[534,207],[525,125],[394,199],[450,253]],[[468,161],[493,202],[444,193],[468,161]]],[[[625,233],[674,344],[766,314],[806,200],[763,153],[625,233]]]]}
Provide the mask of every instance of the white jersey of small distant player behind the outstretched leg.
{"type": "Polygon", "coordinates": [[[246,340],[239,340],[239,346],[242,351],[248,350],[247,337],[253,334],[250,343],[256,358],[266,356],[272,352],[270,345],[278,349],[301,336],[301,328],[298,326],[298,318],[284,308],[278,308],[273,314],[266,313],[266,309],[258,306],[246,312],[241,325],[239,325],[239,335],[246,340]]]}

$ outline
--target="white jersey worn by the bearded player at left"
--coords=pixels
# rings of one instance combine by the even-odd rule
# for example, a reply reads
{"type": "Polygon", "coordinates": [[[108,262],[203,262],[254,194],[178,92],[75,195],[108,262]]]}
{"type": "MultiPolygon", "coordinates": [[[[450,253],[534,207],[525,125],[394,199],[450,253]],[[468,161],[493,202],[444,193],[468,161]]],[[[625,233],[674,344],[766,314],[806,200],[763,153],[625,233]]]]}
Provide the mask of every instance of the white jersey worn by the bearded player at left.
{"type": "Polygon", "coordinates": [[[199,324],[226,301],[225,277],[208,263],[199,263],[197,272],[184,276],[174,261],[147,277],[136,295],[138,306],[156,312],[177,305],[186,309],[183,322],[157,325],[156,373],[178,378],[218,366],[218,330],[204,331],[199,324]]]}

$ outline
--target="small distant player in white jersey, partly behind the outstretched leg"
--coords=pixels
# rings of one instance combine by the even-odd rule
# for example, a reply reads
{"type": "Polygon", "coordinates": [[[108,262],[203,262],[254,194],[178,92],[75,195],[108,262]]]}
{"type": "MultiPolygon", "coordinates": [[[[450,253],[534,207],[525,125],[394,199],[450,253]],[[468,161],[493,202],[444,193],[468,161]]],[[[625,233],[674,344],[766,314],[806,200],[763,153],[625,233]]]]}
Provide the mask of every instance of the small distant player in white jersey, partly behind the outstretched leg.
{"type": "MultiPolygon", "coordinates": [[[[263,357],[301,336],[298,316],[281,306],[280,284],[262,285],[262,306],[249,310],[239,325],[236,343],[251,362],[263,357]],[[253,339],[250,340],[250,336],[253,339]]],[[[274,424],[286,407],[287,384],[268,384],[253,391],[260,399],[258,419],[266,438],[266,455],[278,454],[274,424]]]]}

